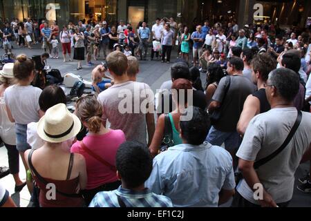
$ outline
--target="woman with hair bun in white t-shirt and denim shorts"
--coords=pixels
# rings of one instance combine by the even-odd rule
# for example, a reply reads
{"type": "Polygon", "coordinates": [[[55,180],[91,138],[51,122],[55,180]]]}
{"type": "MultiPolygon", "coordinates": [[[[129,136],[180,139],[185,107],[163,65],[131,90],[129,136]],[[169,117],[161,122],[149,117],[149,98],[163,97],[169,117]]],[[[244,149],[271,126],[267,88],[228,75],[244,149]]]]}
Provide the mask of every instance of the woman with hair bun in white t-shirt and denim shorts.
{"type": "MultiPolygon", "coordinates": [[[[38,122],[44,115],[39,106],[42,90],[30,85],[35,77],[34,70],[33,61],[28,59],[26,55],[19,55],[13,67],[13,74],[17,83],[8,87],[4,92],[8,117],[11,122],[15,122],[17,151],[21,155],[26,171],[28,171],[28,165],[23,153],[31,148],[27,143],[27,124],[38,122]]],[[[31,183],[28,182],[27,186],[31,193],[31,183]]]]}

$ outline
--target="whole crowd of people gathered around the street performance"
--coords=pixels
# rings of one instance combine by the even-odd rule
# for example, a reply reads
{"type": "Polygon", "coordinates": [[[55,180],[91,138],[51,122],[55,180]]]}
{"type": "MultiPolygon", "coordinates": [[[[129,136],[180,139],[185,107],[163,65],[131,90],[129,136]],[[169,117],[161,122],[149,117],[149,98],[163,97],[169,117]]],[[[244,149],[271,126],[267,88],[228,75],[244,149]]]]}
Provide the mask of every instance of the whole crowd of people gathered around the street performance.
{"type": "MultiPolygon", "coordinates": [[[[156,19],[151,30],[145,22],[133,32],[123,21],[111,28],[79,21],[55,35],[43,25],[48,52],[59,37],[64,55],[75,48],[78,69],[101,50],[106,64],[92,72],[97,93],[77,99],[74,113],[59,86],[32,86],[35,65],[26,55],[3,66],[1,140],[15,191],[27,185],[34,205],[220,206],[233,198],[234,207],[283,207],[294,188],[310,193],[310,173],[294,186],[296,169],[311,160],[310,29],[205,21],[190,33],[156,19]],[[170,62],[173,45],[182,56],[155,97],[136,81],[135,55],[147,59],[151,42],[151,59],[170,62]],[[110,83],[102,81],[108,71],[110,83]]],[[[0,206],[15,206],[3,186],[0,193],[0,206]]]]}

